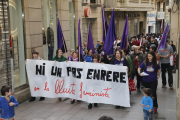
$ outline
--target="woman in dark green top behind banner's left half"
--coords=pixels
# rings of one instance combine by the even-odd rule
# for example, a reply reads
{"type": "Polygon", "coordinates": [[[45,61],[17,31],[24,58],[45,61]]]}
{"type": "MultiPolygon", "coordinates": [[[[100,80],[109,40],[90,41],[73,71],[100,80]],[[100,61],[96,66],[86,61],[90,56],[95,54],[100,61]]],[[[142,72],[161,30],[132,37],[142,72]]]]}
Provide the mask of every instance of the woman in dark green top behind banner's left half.
{"type": "MultiPolygon", "coordinates": [[[[56,56],[53,58],[53,61],[58,61],[58,62],[64,62],[68,60],[66,57],[63,56],[63,52],[60,48],[56,50],[56,56]]],[[[61,102],[62,98],[58,98],[56,102],[61,102]]]]}

